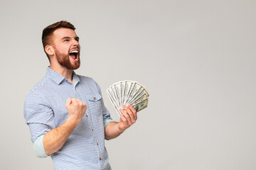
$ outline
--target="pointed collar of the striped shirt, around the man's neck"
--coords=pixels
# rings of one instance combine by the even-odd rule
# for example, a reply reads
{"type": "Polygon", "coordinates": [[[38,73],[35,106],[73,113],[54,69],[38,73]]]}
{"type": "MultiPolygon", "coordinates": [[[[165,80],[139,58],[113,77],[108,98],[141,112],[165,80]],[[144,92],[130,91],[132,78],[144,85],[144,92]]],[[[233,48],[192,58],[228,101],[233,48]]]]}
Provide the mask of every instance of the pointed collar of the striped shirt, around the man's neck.
{"type": "MultiPolygon", "coordinates": [[[[46,71],[46,75],[47,77],[49,77],[50,79],[52,79],[56,84],[60,84],[64,79],[66,79],[65,77],[63,77],[62,75],[58,74],[57,72],[54,72],[52,69],[50,69],[50,66],[48,66],[47,71],[46,71]]],[[[75,72],[73,71],[73,81],[77,81],[79,82],[80,79],[78,77],[77,74],[75,74],[75,72]]]]}

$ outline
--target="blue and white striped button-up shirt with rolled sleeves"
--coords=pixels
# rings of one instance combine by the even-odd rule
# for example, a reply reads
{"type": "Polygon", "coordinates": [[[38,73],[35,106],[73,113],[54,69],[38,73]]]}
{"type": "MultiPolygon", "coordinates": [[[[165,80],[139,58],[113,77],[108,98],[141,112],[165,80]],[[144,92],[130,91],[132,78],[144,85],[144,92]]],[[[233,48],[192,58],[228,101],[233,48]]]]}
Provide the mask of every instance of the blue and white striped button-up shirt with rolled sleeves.
{"type": "Polygon", "coordinates": [[[104,128],[112,118],[104,106],[100,86],[90,77],[73,72],[71,84],[48,67],[46,77],[33,86],[24,104],[24,117],[32,142],[43,145],[43,135],[65,122],[68,118],[65,108],[68,98],[83,101],[87,111],[63,147],[50,155],[54,169],[111,169],[104,128]]]}

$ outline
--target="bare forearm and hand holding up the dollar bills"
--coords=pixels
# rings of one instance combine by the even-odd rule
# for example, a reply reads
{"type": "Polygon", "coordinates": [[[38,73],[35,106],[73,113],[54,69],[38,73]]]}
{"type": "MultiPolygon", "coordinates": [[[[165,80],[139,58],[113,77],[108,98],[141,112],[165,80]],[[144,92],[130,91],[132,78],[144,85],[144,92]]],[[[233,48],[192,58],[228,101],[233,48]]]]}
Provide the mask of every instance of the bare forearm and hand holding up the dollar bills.
{"type": "Polygon", "coordinates": [[[124,132],[127,128],[129,128],[132,124],[134,124],[137,120],[137,111],[132,106],[123,106],[124,110],[121,108],[119,111],[122,113],[120,115],[119,123],[111,122],[108,123],[105,127],[105,138],[107,140],[114,139],[124,132]]]}

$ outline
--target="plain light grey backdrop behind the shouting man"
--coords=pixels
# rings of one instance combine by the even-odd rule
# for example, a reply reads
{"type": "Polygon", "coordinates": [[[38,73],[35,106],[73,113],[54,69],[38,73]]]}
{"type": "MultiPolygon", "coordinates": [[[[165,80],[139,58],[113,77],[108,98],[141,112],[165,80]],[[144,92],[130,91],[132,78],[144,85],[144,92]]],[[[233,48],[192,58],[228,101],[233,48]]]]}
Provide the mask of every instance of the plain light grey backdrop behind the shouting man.
{"type": "Polygon", "coordinates": [[[130,79],[149,107],[106,141],[113,169],[256,169],[255,1],[0,1],[1,169],[53,169],[33,153],[23,118],[45,74],[43,28],[70,21],[76,72],[105,90],[130,79]]]}

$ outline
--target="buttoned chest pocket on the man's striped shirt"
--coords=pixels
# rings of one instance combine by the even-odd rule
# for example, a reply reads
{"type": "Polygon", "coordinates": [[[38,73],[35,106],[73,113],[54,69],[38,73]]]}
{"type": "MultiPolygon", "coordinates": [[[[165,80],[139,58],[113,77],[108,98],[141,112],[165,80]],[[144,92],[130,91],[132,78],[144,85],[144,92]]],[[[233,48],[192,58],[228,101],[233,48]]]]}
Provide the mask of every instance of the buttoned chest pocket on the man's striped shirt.
{"type": "Polygon", "coordinates": [[[92,115],[102,115],[102,96],[95,93],[87,94],[85,98],[87,98],[87,108],[90,109],[90,113],[92,115]]]}

